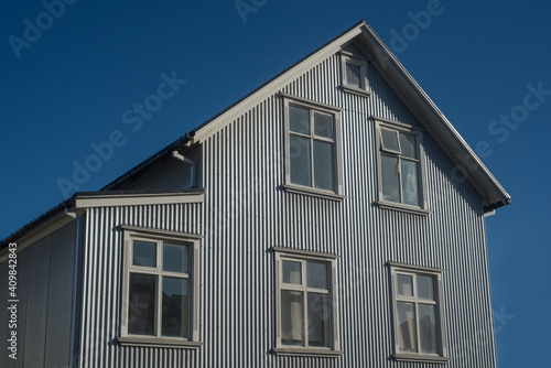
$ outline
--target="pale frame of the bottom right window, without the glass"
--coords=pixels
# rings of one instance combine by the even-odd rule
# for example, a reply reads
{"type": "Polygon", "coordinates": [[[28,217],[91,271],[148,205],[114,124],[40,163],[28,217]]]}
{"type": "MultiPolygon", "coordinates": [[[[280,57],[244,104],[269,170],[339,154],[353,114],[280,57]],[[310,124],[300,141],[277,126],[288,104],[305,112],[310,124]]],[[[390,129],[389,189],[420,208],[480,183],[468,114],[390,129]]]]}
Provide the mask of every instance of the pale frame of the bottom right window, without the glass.
{"type": "Polygon", "coordinates": [[[398,262],[388,262],[390,267],[391,275],[391,297],[392,297],[392,325],[393,325],[393,338],[395,338],[395,354],[396,360],[401,361],[421,361],[421,362],[447,362],[450,361],[447,353],[447,344],[445,339],[445,324],[443,317],[443,289],[442,289],[442,274],[444,270],[429,267],[418,267],[412,264],[403,264],[398,262]],[[398,274],[406,274],[412,277],[413,283],[413,296],[398,295],[398,274]],[[426,300],[420,300],[417,292],[417,277],[418,275],[429,275],[434,279],[434,301],[430,302],[426,300]],[[398,302],[414,303],[415,305],[415,329],[417,329],[417,344],[418,350],[421,344],[420,332],[419,332],[419,304],[432,304],[436,305],[436,323],[437,323],[437,354],[425,354],[425,353],[402,353],[399,348],[398,342],[398,302]]]}

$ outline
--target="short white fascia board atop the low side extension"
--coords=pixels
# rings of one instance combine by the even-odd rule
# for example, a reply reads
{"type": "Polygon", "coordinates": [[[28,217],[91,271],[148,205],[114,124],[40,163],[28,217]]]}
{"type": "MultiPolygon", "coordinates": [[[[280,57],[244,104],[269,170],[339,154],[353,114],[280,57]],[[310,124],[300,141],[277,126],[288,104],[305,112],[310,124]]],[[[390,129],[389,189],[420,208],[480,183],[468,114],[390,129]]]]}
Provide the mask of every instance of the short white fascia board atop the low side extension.
{"type": "Polygon", "coordinates": [[[203,203],[204,193],[119,194],[77,197],[76,208],[203,203]]]}

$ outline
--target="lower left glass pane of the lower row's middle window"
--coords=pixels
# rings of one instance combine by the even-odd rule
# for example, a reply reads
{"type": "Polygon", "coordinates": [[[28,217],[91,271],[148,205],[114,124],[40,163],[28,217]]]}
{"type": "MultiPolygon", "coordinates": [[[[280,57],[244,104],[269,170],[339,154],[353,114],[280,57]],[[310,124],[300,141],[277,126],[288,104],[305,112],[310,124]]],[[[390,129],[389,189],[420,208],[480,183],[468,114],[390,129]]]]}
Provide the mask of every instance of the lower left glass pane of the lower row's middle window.
{"type": "Polygon", "coordinates": [[[304,301],[302,292],[281,291],[281,344],[303,345],[304,301]]]}

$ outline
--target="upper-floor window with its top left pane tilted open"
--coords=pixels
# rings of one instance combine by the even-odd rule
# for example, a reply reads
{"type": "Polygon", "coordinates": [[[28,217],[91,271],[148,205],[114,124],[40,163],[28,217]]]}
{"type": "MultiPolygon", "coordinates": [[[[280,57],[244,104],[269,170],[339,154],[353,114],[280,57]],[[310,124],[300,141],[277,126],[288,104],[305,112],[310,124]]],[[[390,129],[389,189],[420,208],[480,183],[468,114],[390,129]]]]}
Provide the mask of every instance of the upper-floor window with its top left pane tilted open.
{"type": "MultiPolygon", "coordinates": [[[[421,132],[411,127],[379,122],[379,204],[425,208],[421,132]]],[[[395,206],[399,208],[400,206],[395,206]]]]}

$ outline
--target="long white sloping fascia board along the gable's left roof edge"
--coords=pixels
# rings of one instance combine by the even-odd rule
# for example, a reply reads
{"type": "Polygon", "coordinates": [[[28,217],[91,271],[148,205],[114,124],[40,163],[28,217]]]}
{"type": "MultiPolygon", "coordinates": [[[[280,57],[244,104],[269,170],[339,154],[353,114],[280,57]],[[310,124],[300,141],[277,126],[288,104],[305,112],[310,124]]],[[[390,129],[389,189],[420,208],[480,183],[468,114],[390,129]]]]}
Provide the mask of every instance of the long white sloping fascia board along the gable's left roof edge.
{"type": "Polygon", "coordinates": [[[210,121],[209,123],[197,130],[195,132],[195,136],[193,137],[192,144],[206,140],[208,137],[216,133],[218,130],[223,129],[227,125],[231,123],[234,120],[239,118],[241,115],[246,113],[248,110],[250,110],[264,99],[279,93],[293,79],[300,77],[302,74],[306,73],[315,65],[320,64],[331,55],[341,51],[341,47],[344,44],[356,37],[358,34],[361,34],[361,26],[364,25],[358,25],[357,28],[348,31],[341,37],[331,42],[325,47],[318,50],[315,54],[303,59],[301,63],[299,63],[284,74],[280,75],[278,78],[273,79],[271,83],[267,84],[264,87],[257,90],[255,94],[247,97],[241,102],[237,104],[236,106],[234,106],[233,108],[230,108],[229,110],[217,117],[215,120],[210,121]]]}

